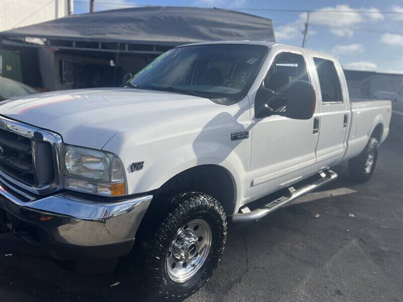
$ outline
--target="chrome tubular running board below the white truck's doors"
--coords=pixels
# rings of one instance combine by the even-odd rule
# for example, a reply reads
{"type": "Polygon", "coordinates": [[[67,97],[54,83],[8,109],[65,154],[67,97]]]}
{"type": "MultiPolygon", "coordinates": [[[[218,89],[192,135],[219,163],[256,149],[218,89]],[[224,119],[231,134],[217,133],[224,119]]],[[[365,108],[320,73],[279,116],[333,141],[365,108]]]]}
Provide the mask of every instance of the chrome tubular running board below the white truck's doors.
{"type": "Polygon", "coordinates": [[[237,213],[233,215],[232,221],[233,222],[257,221],[260,218],[264,217],[265,215],[270,214],[271,212],[274,212],[275,210],[285,206],[290,201],[332,182],[338,177],[338,175],[331,170],[326,170],[319,172],[319,177],[320,177],[319,180],[316,180],[313,183],[302,186],[298,189],[295,189],[293,186],[288,187],[288,191],[290,192],[289,194],[281,196],[267,203],[266,205],[258,207],[252,211],[250,211],[249,207],[246,205],[241,207],[240,210],[242,213],[237,213]]]}

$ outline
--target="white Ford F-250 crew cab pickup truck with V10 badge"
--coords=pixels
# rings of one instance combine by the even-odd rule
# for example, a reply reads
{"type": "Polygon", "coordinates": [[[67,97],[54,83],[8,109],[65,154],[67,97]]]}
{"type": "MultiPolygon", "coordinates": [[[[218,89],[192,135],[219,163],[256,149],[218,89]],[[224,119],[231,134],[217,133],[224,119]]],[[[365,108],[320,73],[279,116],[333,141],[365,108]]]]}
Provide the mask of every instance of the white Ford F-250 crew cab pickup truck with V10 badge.
{"type": "Polygon", "coordinates": [[[367,181],[390,116],[390,101],[350,103],[326,54],[177,47],[123,88],[0,105],[2,230],[91,272],[128,255],[147,295],[181,300],[216,270],[227,221],[262,218],[342,161],[367,181]]]}

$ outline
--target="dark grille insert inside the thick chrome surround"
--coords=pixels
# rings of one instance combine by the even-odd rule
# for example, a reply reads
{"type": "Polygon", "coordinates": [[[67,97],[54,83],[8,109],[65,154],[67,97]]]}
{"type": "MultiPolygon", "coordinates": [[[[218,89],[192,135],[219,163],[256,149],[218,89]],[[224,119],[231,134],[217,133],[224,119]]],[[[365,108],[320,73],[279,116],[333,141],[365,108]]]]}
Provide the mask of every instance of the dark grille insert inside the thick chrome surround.
{"type": "Polygon", "coordinates": [[[0,129],[0,169],[24,184],[34,186],[31,139],[0,129]]]}

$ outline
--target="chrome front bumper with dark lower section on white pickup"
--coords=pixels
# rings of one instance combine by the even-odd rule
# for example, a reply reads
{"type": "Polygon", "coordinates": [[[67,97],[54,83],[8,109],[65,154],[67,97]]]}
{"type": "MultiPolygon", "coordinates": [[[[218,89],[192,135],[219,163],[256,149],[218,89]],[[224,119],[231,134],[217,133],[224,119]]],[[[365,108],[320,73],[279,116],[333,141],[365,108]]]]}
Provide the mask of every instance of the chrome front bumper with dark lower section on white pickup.
{"type": "Polygon", "coordinates": [[[0,186],[0,223],[57,260],[127,255],[152,195],[100,203],[66,193],[25,202],[0,186]]]}

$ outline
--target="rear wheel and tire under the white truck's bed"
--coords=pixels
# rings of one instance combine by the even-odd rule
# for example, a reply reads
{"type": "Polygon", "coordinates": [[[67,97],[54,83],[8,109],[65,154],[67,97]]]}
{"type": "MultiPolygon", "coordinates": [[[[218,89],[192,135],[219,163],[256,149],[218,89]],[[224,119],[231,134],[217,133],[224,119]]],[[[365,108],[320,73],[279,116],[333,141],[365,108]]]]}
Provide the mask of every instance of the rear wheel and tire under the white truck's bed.
{"type": "Polygon", "coordinates": [[[363,152],[349,161],[349,174],[354,181],[366,182],[371,178],[378,159],[378,147],[378,140],[371,137],[363,152]]]}

